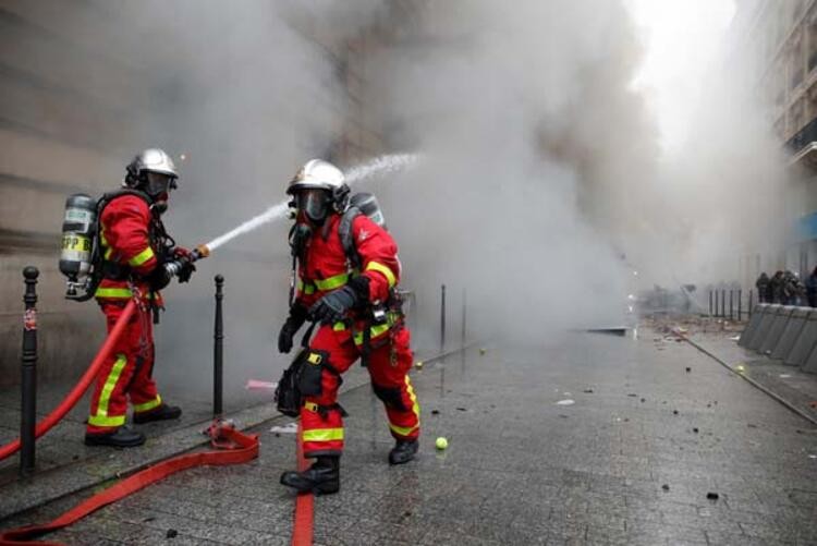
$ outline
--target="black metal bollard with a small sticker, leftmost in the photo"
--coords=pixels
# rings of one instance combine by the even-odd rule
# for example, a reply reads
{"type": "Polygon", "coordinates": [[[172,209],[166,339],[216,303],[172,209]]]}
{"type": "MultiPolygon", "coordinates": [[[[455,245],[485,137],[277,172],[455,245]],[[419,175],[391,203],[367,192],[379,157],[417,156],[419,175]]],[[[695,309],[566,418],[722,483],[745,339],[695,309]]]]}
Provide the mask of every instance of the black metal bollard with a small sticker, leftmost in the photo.
{"type": "Polygon", "coordinates": [[[25,314],[23,315],[23,367],[20,420],[20,474],[34,472],[35,429],[37,426],[37,277],[39,270],[28,266],[25,277],[25,314]]]}

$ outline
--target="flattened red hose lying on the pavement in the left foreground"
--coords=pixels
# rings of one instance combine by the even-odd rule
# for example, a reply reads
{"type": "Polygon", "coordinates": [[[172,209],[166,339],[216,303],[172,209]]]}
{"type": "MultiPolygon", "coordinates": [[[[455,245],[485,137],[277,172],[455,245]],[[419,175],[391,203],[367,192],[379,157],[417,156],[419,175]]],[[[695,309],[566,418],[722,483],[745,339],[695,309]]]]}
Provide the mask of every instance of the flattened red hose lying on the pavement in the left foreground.
{"type": "Polygon", "coordinates": [[[235,430],[232,425],[224,422],[215,422],[210,426],[208,434],[216,450],[184,454],[157,463],[94,495],[49,523],[5,531],[0,534],[0,545],[61,546],[59,543],[53,542],[32,543],[27,542],[27,539],[71,525],[103,506],[115,502],[132,493],[147,487],[154,482],[158,482],[182,470],[205,464],[239,464],[258,457],[258,435],[256,434],[242,434],[235,430]]]}

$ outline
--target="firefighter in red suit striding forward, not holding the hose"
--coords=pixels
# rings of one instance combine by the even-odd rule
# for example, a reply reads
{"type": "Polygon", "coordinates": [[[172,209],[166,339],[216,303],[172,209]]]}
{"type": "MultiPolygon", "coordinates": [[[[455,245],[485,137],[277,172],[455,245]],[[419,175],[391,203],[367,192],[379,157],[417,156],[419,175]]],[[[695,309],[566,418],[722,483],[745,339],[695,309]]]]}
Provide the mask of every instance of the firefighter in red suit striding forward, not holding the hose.
{"type": "Polygon", "coordinates": [[[375,395],[386,407],[395,446],[391,464],[417,452],[419,405],[408,379],[410,333],[395,305],[400,260],[394,240],[366,215],[353,216],[347,230],[355,259],[344,248],[341,225],[347,216],[349,186],[333,165],[313,159],[290,183],[297,219],[291,243],[297,247],[297,293],[281,328],[278,348],[292,349],[307,320],[319,323],[298,388],[304,457],[315,459],[304,472],[284,472],[281,483],[300,492],[336,493],[343,451],[343,409],[338,405],[341,375],[363,357],[375,395]]]}

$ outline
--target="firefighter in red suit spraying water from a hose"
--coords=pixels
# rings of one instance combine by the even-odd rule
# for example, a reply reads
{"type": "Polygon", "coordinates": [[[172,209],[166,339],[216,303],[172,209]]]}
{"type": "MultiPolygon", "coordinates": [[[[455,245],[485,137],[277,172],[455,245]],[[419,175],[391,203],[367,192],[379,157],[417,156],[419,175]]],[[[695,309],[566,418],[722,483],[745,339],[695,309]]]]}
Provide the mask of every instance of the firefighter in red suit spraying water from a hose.
{"type": "Polygon", "coordinates": [[[154,318],[162,305],[159,290],[171,280],[173,262],[180,282],[195,270],[190,253],[176,247],[164,231],[161,214],[176,186],[173,160],[160,149],[147,149],[129,163],[124,189],[102,197],[99,245],[102,281],[95,296],[110,332],[125,304],[137,298],[138,307],[97,376],[85,434],[88,446],[134,447],[142,433],[125,426],[127,401],[133,422],[178,418],[180,408],[164,403],[153,378],[154,318]]]}

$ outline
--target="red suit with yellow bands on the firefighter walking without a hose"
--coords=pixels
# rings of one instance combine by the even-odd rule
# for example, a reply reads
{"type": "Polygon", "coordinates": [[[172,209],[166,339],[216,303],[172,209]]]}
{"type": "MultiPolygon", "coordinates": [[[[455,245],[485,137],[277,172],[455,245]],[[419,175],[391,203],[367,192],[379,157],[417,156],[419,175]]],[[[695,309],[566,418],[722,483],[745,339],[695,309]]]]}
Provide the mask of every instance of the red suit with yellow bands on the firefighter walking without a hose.
{"type": "MultiPolygon", "coordinates": [[[[338,225],[331,215],[328,225],[314,230],[298,270],[296,305],[309,308],[321,296],[349,281],[346,255],[338,225]]],[[[368,277],[368,301],[386,302],[400,280],[398,247],[389,232],[368,217],[357,216],[352,235],[361,256],[361,272],[368,277]]],[[[340,375],[361,356],[366,323],[355,312],[347,323],[322,325],[309,344],[305,366],[320,374],[320,393],[304,396],[301,409],[304,456],[339,456],[343,450],[343,418],[337,405],[340,375]],[[351,326],[351,328],[350,328],[351,326]]],[[[413,355],[410,332],[402,318],[370,326],[368,371],[377,397],[386,405],[389,428],[397,439],[419,436],[419,404],[408,379],[413,355]]]]}

